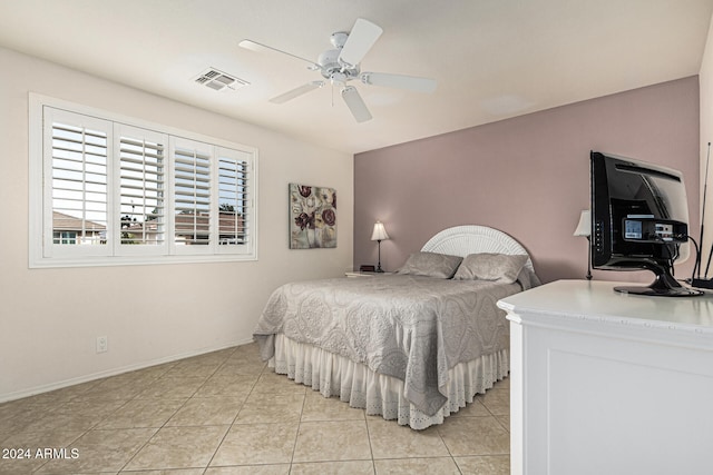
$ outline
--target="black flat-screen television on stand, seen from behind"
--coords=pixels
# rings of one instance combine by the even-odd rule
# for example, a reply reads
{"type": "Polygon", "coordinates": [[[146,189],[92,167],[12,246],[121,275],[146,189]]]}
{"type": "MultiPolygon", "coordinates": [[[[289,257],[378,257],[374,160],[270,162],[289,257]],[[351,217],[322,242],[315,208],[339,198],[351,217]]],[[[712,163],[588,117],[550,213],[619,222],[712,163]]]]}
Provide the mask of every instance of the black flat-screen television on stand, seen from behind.
{"type": "Polygon", "coordinates": [[[683,175],[631,158],[590,152],[592,265],[606,270],[651,270],[646,286],[627,294],[678,297],[702,293],[681,285],[673,263],[688,254],[688,206],[683,175]]]}

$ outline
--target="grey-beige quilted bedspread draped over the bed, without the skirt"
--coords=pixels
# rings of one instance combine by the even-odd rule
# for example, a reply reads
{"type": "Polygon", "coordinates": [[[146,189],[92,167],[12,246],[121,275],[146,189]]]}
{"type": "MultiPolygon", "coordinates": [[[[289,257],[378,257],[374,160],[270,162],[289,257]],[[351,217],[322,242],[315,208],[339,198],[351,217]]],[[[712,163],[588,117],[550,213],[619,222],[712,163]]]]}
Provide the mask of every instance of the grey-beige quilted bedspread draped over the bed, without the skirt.
{"type": "Polygon", "coordinates": [[[410,275],[292,283],[270,297],[254,337],[264,359],[283,334],[395,377],[406,398],[433,415],[448,399],[449,369],[508,348],[496,303],[521,289],[410,275]]]}

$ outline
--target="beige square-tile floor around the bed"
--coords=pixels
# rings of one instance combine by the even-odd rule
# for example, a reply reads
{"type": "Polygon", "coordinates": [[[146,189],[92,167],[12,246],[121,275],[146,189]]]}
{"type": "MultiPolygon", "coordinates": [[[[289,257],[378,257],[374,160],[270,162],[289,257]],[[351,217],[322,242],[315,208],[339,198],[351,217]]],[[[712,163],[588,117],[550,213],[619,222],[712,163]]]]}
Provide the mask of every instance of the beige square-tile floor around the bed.
{"type": "Polygon", "coordinates": [[[250,344],[1,404],[0,448],[11,475],[508,474],[509,380],[417,432],[275,375],[250,344]]]}

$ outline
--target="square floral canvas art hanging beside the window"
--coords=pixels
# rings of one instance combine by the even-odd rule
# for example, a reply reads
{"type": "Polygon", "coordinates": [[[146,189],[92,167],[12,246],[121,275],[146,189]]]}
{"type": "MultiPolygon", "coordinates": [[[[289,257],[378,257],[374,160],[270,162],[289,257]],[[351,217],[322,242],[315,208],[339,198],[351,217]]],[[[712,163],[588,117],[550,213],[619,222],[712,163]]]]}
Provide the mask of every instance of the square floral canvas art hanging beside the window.
{"type": "Polygon", "coordinates": [[[290,184],[290,249],[336,247],[336,190],[290,184]]]}

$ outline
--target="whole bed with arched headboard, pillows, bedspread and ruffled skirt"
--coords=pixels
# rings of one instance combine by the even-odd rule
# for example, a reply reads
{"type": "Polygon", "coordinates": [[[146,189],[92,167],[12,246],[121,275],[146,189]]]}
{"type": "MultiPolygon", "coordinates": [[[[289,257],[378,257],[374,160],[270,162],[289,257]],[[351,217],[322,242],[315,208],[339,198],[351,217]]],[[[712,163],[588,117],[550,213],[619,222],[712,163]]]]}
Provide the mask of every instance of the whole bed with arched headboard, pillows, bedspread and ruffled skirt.
{"type": "Polygon", "coordinates": [[[517,240],[458,226],[394,275],[281,286],[253,336],[275,373],[423,429],[508,375],[509,326],[496,303],[536,285],[517,240]]]}

